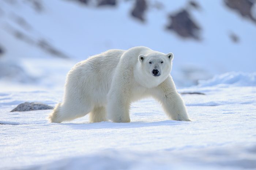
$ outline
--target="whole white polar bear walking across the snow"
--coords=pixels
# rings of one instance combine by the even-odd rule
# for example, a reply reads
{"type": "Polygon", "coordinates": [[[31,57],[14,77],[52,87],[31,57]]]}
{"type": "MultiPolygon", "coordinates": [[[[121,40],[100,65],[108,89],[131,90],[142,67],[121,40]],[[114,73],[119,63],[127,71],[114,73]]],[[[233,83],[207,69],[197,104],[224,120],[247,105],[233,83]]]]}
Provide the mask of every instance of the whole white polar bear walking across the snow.
{"type": "Polygon", "coordinates": [[[172,60],[173,53],[133,47],[79,62],[68,72],[63,103],[56,105],[49,121],[61,123],[90,113],[90,122],[130,122],[130,104],[149,96],[170,119],[190,121],[170,76],[172,60]]]}

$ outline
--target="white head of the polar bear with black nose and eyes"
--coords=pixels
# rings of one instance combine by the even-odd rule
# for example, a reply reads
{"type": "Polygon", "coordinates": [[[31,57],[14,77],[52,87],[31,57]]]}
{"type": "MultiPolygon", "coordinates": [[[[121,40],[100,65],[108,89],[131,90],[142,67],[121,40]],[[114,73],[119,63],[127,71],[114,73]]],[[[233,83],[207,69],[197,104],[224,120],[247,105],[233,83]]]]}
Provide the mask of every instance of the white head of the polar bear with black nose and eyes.
{"type": "MultiPolygon", "coordinates": [[[[160,53],[157,51],[140,54],[140,78],[144,81],[143,86],[154,87],[161,84],[172,70],[173,53],[160,53]]],[[[142,83],[142,82],[141,82],[142,83]]]]}

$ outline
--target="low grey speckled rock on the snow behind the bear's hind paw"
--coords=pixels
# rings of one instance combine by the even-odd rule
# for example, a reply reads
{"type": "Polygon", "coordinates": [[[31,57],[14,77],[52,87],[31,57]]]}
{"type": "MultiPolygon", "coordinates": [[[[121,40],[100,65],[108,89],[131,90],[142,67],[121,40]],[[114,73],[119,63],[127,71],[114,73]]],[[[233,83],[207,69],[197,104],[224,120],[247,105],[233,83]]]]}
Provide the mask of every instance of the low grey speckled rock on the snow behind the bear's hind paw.
{"type": "Polygon", "coordinates": [[[53,107],[43,103],[25,102],[25,103],[19,104],[11,112],[36,111],[36,110],[47,110],[47,109],[53,109],[53,107]]]}

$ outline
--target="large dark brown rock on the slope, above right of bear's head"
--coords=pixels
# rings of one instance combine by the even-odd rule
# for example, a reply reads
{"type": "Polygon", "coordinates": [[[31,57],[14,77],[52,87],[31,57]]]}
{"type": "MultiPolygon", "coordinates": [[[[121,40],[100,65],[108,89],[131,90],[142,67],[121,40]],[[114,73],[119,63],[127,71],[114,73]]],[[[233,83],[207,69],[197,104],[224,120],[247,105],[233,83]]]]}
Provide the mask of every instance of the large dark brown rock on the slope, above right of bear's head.
{"type": "Polygon", "coordinates": [[[200,40],[200,27],[192,20],[191,15],[186,9],[169,15],[170,23],[167,25],[168,30],[176,32],[183,38],[193,38],[200,40]]]}

